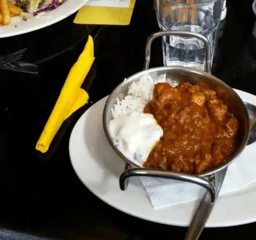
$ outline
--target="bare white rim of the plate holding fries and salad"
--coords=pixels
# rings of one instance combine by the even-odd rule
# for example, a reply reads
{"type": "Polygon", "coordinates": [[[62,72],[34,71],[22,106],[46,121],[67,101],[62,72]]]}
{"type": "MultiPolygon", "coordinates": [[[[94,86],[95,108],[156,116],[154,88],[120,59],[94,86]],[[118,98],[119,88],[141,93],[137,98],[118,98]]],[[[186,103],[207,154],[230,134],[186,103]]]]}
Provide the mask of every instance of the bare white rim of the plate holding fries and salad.
{"type": "MultiPolygon", "coordinates": [[[[26,22],[22,21],[20,17],[14,17],[12,18],[12,23],[10,25],[0,26],[0,38],[21,35],[50,26],[66,17],[69,17],[82,8],[82,6],[87,2],[89,2],[89,0],[66,0],[57,9],[49,12],[43,12],[26,22]]],[[[67,32],[68,31],[69,30],[67,29],[67,32]]]]}

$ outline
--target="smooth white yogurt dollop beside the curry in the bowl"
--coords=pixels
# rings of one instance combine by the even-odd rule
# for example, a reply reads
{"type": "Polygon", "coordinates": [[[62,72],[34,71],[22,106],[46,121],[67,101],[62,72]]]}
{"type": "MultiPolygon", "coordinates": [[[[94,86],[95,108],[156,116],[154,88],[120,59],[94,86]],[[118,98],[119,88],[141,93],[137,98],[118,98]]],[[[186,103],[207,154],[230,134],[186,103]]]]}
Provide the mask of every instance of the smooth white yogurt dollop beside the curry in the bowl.
{"type": "Polygon", "coordinates": [[[133,112],[109,123],[114,145],[131,161],[142,165],[163,136],[152,114],[133,112]]]}

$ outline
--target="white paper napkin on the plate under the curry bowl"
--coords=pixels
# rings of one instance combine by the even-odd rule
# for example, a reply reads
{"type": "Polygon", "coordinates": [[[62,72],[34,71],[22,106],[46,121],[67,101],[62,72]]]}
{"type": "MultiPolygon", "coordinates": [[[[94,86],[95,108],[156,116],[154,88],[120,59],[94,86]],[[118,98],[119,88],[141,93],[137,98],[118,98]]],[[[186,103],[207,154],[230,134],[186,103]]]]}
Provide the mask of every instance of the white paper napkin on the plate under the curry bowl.
{"type": "MultiPolygon", "coordinates": [[[[205,190],[196,184],[152,177],[140,177],[153,208],[190,202],[202,197],[205,190]]],[[[237,191],[256,182],[256,142],[228,167],[220,195],[237,191]]]]}

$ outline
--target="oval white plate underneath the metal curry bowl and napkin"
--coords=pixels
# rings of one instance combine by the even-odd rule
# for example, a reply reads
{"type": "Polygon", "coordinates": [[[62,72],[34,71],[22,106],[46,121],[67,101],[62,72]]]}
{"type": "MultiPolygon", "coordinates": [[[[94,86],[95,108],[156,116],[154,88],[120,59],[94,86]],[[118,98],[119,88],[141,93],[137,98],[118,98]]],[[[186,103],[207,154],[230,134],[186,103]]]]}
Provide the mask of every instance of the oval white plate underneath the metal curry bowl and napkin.
{"type": "MultiPolygon", "coordinates": [[[[256,104],[256,96],[237,92],[242,100],[256,104]]],[[[130,179],[126,191],[119,189],[119,176],[124,170],[124,162],[114,153],[105,138],[102,126],[105,101],[106,97],[90,107],[71,133],[69,152],[77,176],[93,194],[120,211],[152,222],[187,226],[197,201],[154,210],[136,177],[130,179]]],[[[206,227],[227,227],[256,221],[255,202],[255,185],[220,196],[206,227]]]]}

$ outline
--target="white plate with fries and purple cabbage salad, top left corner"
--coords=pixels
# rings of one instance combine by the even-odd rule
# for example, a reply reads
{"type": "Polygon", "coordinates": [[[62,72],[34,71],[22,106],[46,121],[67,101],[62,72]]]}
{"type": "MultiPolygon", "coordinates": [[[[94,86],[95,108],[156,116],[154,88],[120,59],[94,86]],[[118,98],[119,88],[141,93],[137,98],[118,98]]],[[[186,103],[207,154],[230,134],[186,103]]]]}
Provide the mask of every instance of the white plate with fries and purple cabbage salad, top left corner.
{"type": "Polygon", "coordinates": [[[1,0],[0,2],[0,38],[4,38],[57,23],[78,11],[89,0],[1,0]]]}

